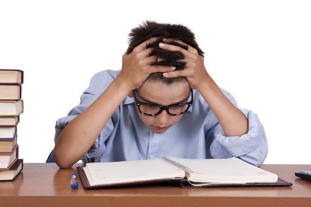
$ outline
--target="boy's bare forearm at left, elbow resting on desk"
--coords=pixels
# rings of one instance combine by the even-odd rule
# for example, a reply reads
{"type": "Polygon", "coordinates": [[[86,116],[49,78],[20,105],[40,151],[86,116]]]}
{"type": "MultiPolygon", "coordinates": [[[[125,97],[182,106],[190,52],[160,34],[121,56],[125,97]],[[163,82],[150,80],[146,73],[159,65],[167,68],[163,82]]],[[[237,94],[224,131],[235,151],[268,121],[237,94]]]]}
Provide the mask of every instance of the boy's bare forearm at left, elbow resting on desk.
{"type": "Polygon", "coordinates": [[[59,167],[69,168],[86,154],[129,92],[121,80],[115,79],[101,96],[64,127],[53,150],[59,167]]]}

